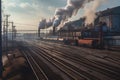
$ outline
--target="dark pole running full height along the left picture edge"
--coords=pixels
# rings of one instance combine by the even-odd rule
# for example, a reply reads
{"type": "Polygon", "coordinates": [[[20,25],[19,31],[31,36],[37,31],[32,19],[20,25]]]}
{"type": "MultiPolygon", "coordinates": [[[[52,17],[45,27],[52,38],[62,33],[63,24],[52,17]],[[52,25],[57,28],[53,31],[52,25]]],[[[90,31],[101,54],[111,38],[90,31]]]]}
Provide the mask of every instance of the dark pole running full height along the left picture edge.
{"type": "MultiPolygon", "coordinates": [[[[1,0],[0,0],[1,6],[1,0]]],[[[0,8],[1,11],[1,8],[0,8]]],[[[3,72],[3,64],[2,64],[2,20],[1,20],[1,12],[0,12],[0,79],[2,80],[2,72],[3,72]]]]}

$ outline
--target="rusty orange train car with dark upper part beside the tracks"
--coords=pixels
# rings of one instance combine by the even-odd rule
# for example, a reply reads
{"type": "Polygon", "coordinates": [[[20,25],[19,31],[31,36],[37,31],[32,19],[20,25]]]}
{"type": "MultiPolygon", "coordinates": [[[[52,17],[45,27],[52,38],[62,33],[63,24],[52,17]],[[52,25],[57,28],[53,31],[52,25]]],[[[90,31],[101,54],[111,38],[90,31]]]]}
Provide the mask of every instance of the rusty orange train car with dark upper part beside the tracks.
{"type": "Polygon", "coordinates": [[[86,46],[97,48],[99,46],[99,32],[88,29],[83,30],[81,33],[81,37],[78,39],[79,46],[86,46]]]}

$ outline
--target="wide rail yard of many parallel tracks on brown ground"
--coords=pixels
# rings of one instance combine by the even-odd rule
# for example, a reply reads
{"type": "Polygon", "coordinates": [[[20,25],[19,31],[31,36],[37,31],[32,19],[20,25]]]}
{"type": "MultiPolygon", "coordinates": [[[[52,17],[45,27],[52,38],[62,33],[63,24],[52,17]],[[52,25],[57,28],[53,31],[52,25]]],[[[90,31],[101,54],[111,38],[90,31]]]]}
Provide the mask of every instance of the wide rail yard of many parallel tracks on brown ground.
{"type": "Polygon", "coordinates": [[[120,54],[50,41],[18,41],[36,80],[119,80],[120,54]],[[39,42],[39,43],[38,43],[39,42]]]}

